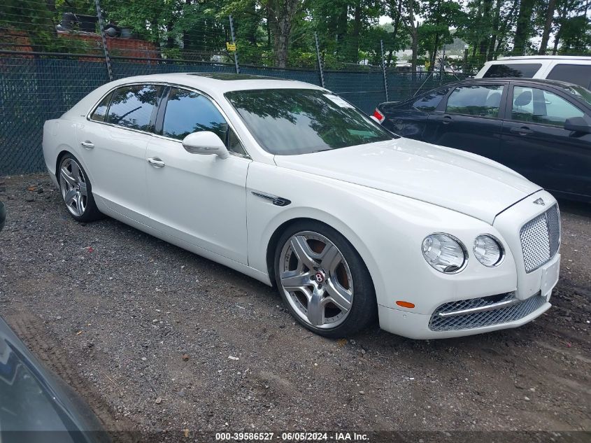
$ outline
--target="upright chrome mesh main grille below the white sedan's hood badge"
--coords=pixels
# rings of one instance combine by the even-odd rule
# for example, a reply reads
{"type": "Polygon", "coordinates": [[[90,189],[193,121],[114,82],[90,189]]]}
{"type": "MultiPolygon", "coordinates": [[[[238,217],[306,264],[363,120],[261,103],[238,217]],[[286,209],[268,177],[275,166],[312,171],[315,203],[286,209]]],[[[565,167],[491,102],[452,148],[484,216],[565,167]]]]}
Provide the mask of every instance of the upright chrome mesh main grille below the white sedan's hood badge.
{"type": "Polygon", "coordinates": [[[560,246],[558,205],[529,220],[519,232],[525,272],[532,272],[549,262],[560,246]]]}

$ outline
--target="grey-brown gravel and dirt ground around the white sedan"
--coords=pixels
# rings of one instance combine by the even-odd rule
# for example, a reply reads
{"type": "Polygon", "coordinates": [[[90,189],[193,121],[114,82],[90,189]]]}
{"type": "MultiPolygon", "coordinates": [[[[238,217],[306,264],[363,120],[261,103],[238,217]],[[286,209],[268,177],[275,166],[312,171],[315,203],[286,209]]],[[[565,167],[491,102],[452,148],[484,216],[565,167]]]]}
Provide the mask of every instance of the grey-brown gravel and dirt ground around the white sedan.
{"type": "Polygon", "coordinates": [[[335,341],[253,279],[115,220],[74,222],[45,176],[1,181],[0,313],[109,429],[591,430],[589,205],[562,204],[562,276],[534,323],[335,341]]]}

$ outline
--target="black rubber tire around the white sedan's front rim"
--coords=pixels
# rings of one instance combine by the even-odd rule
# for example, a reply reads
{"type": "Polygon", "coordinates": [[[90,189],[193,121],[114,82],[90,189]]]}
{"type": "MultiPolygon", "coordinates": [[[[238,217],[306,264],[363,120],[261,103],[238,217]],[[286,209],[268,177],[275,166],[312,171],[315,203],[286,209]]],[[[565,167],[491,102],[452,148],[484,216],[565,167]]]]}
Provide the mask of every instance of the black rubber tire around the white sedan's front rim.
{"type": "MultiPolygon", "coordinates": [[[[376,321],[378,305],[369,271],[362,258],[359,256],[359,253],[353,248],[353,245],[351,245],[340,232],[334,230],[334,228],[329,225],[315,220],[302,220],[290,225],[278,239],[274,260],[276,286],[279,294],[283,298],[283,301],[285,302],[287,309],[290,310],[292,316],[294,316],[294,318],[308,330],[324,337],[349,337],[350,335],[367,328],[371,323],[376,321]],[[289,246],[286,246],[287,241],[290,241],[292,236],[301,232],[318,233],[331,241],[332,244],[339,249],[341,255],[348,264],[348,269],[350,269],[350,276],[353,278],[353,303],[351,304],[344,321],[339,325],[336,325],[334,328],[318,328],[308,321],[304,321],[300,316],[301,313],[298,314],[290,300],[288,300],[290,295],[286,293],[286,290],[284,290],[281,283],[279,269],[280,255],[282,254],[284,246],[289,248],[289,246]]],[[[309,269],[309,267],[307,268],[309,269]]]]}

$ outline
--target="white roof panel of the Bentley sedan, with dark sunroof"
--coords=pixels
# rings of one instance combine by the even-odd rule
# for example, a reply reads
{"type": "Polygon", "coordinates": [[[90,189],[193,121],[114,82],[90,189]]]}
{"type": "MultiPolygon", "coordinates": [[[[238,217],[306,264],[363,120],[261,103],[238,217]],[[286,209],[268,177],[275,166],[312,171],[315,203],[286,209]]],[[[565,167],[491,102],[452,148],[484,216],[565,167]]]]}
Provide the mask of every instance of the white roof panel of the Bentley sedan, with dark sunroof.
{"type": "Polygon", "coordinates": [[[113,85],[126,83],[173,83],[176,85],[195,87],[210,94],[224,94],[229,91],[259,89],[318,89],[322,87],[287,78],[253,76],[250,74],[222,72],[182,72],[151,74],[121,78],[113,85]]]}

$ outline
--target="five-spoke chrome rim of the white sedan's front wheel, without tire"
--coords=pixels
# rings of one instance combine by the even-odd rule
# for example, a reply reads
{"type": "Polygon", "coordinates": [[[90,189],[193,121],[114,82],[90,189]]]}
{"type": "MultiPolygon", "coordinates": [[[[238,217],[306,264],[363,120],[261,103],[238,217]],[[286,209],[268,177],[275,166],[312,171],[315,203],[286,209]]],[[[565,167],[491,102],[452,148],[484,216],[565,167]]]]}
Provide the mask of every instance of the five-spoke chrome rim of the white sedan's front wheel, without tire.
{"type": "Polygon", "coordinates": [[[336,328],[353,306],[353,277],[332,241],[317,232],[294,234],[279,257],[280,284],[302,321],[336,328]]]}

